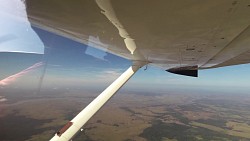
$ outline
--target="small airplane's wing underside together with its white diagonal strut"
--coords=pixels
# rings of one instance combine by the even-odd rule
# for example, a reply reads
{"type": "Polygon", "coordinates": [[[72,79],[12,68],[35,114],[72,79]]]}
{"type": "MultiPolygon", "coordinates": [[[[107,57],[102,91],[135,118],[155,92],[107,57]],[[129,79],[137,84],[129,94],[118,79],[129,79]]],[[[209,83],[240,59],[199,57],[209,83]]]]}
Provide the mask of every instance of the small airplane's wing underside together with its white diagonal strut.
{"type": "Polygon", "coordinates": [[[132,62],[51,141],[71,140],[145,65],[198,77],[201,69],[250,63],[249,0],[20,2],[25,5],[24,15],[32,26],[91,44],[132,62]]]}

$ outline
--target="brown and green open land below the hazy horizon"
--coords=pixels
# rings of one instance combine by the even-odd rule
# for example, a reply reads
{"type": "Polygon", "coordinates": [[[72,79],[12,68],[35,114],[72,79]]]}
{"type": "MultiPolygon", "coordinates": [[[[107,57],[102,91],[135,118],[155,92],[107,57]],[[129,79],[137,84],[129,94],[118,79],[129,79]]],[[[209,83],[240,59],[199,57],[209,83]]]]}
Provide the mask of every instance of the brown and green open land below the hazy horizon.
{"type": "MultiPolygon", "coordinates": [[[[54,93],[5,96],[0,140],[48,140],[96,96],[88,91],[54,93]]],[[[250,95],[121,91],[74,141],[248,141],[249,109],[250,95]]]]}

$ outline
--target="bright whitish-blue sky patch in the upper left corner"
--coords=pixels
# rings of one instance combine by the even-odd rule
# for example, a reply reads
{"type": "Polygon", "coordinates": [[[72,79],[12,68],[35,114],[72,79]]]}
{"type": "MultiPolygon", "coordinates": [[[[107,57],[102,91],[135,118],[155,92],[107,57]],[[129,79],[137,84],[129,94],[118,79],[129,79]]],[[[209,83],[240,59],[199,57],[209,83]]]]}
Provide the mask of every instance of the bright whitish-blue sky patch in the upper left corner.
{"type": "Polygon", "coordinates": [[[44,45],[32,30],[22,1],[1,1],[0,18],[0,52],[43,53],[44,45]]]}

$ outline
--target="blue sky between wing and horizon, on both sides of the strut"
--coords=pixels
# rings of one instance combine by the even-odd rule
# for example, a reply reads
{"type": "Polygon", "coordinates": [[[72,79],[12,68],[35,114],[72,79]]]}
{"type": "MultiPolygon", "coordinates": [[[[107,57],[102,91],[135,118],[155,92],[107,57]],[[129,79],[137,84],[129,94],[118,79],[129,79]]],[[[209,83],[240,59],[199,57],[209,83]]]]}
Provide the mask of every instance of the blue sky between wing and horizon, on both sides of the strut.
{"type": "MultiPolygon", "coordinates": [[[[47,62],[43,87],[104,89],[124,72],[131,62],[70,39],[33,28],[46,48],[46,54],[1,53],[0,78],[18,73],[37,62],[47,62]]],[[[22,44],[18,44],[22,46],[22,44]]],[[[15,83],[36,87],[44,67],[18,78],[15,83]],[[25,83],[24,83],[25,82],[25,83]],[[36,83],[34,83],[36,82],[36,83]]],[[[149,66],[140,69],[123,89],[165,90],[208,89],[248,93],[250,64],[199,71],[198,78],[168,73],[149,66]]]]}

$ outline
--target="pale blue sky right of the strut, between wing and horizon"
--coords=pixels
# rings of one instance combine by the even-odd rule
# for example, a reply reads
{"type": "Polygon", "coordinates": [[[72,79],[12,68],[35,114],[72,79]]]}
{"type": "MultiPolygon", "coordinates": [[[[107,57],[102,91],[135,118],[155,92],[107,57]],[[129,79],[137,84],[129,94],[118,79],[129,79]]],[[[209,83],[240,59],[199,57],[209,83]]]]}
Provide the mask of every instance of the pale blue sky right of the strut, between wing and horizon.
{"type": "Polygon", "coordinates": [[[237,65],[223,68],[200,70],[199,77],[187,77],[165,72],[155,67],[147,71],[140,70],[134,77],[134,83],[157,88],[194,88],[210,90],[229,90],[250,92],[250,65],[237,65]]]}

